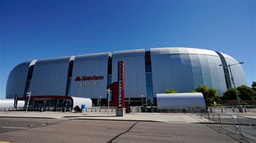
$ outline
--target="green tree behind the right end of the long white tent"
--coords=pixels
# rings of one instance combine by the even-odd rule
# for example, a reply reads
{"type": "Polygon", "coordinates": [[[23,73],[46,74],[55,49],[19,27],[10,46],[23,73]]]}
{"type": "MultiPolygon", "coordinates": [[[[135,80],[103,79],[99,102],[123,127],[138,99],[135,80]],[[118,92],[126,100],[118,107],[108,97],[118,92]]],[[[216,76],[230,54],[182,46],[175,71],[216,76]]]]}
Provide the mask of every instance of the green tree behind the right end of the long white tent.
{"type": "Polygon", "coordinates": [[[196,89],[191,90],[190,92],[194,91],[201,92],[204,95],[206,105],[211,105],[214,101],[220,101],[220,96],[214,88],[207,88],[205,85],[199,85],[196,89]]]}

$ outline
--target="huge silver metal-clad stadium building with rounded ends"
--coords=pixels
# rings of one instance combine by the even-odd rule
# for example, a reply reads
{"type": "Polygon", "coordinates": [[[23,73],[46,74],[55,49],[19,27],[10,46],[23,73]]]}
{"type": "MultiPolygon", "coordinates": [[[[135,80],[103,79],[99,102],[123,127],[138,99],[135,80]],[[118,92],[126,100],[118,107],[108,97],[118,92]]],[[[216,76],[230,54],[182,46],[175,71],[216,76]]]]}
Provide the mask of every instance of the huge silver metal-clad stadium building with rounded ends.
{"type": "MultiPolygon", "coordinates": [[[[125,63],[125,101],[156,105],[156,94],[174,88],[188,92],[206,85],[220,96],[233,86],[230,71],[219,65],[237,60],[224,53],[197,48],[151,48],[106,52],[26,61],[12,69],[6,85],[6,98],[26,100],[32,92],[33,102],[50,104],[72,97],[91,98],[92,103],[106,104],[107,86],[117,81],[117,62],[125,63]],[[45,98],[44,98],[45,97],[45,98]],[[145,102],[146,103],[146,102],[145,102]]],[[[241,65],[231,66],[235,84],[246,84],[241,65]]],[[[111,101],[111,96],[110,96],[111,101]]]]}

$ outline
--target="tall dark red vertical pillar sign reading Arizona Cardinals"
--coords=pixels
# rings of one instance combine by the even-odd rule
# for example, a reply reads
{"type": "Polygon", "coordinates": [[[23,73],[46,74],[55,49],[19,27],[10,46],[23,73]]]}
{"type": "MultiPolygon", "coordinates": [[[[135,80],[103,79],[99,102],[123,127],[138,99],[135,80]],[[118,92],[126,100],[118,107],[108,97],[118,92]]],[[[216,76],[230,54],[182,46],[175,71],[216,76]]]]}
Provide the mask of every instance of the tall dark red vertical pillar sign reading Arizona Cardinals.
{"type": "Polygon", "coordinates": [[[125,115],[124,105],[124,61],[118,61],[117,64],[117,82],[118,82],[118,106],[116,116],[125,115]]]}

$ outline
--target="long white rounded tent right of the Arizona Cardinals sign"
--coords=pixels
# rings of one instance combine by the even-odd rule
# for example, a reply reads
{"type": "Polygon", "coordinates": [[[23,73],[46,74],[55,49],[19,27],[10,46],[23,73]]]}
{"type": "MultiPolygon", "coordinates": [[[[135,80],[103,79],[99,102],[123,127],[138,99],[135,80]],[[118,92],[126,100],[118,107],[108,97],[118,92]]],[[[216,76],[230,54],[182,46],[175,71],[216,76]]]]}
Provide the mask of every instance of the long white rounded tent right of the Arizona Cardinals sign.
{"type": "Polygon", "coordinates": [[[157,94],[157,109],[167,108],[206,109],[206,106],[204,96],[201,92],[157,94]]]}

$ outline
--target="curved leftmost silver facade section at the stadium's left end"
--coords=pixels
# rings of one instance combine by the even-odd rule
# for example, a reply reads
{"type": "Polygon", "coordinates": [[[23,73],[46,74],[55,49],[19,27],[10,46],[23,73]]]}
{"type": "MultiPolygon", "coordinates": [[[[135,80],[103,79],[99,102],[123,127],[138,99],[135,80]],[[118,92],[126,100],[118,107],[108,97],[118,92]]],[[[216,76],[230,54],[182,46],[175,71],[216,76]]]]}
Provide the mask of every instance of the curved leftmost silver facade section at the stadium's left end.
{"type": "Polygon", "coordinates": [[[23,62],[11,70],[6,84],[6,98],[14,98],[15,95],[23,97],[30,62],[23,62]]]}

